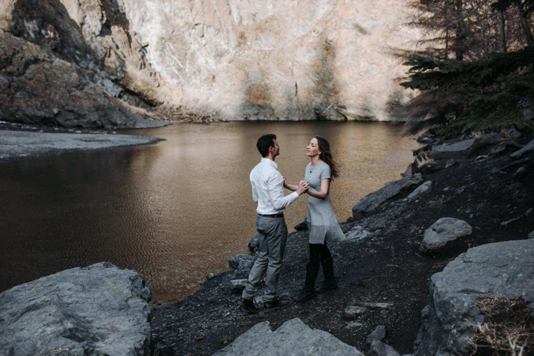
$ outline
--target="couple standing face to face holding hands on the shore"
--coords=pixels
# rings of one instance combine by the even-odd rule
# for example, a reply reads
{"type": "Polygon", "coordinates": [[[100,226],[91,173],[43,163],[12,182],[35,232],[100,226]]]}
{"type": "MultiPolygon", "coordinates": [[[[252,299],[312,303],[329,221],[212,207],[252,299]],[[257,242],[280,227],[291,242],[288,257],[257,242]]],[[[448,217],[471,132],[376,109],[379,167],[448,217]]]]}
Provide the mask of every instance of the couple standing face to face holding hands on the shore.
{"type": "Polygon", "coordinates": [[[310,140],[306,154],[311,162],[306,166],[304,179],[296,185],[287,184],[286,179],[277,170],[274,159],[280,154],[280,146],[275,135],[260,137],[256,146],[262,155],[262,160],[250,172],[250,183],[253,200],[258,204],[256,230],[260,248],[258,258],[248,275],[245,290],[237,304],[251,313],[261,310],[254,304],[253,298],[266,270],[263,311],[269,313],[284,309],[290,304],[289,300],[275,299],[287,240],[287,226],[284,219],[287,205],[293,203],[301,194],[308,194],[310,262],[306,265],[304,288],[293,297],[295,302],[304,302],[316,297],[318,293],[337,288],[332,255],[326,242],[344,240],[345,235],[337,223],[330,202],[330,182],[339,176],[339,171],[332,158],[328,141],[320,136],[310,140]],[[284,188],[293,193],[284,196],[284,188]],[[315,280],[320,265],[323,266],[325,280],[316,290],[315,280]]]}

